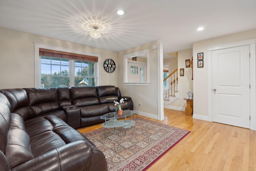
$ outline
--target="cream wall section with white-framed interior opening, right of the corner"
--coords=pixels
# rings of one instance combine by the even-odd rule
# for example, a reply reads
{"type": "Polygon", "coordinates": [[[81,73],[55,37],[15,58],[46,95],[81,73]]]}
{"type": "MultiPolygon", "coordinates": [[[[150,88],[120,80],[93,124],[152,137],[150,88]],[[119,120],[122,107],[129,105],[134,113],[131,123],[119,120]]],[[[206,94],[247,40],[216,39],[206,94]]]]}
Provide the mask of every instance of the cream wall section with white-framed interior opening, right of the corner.
{"type": "Polygon", "coordinates": [[[132,97],[134,110],[138,108],[139,114],[158,119],[158,50],[151,50],[151,46],[157,42],[151,42],[136,48],[131,48],[118,53],[118,87],[123,96],[132,97]],[[150,85],[124,85],[124,55],[150,49],[150,85]],[[143,112],[142,112],[143,111],[143,112]]]}

